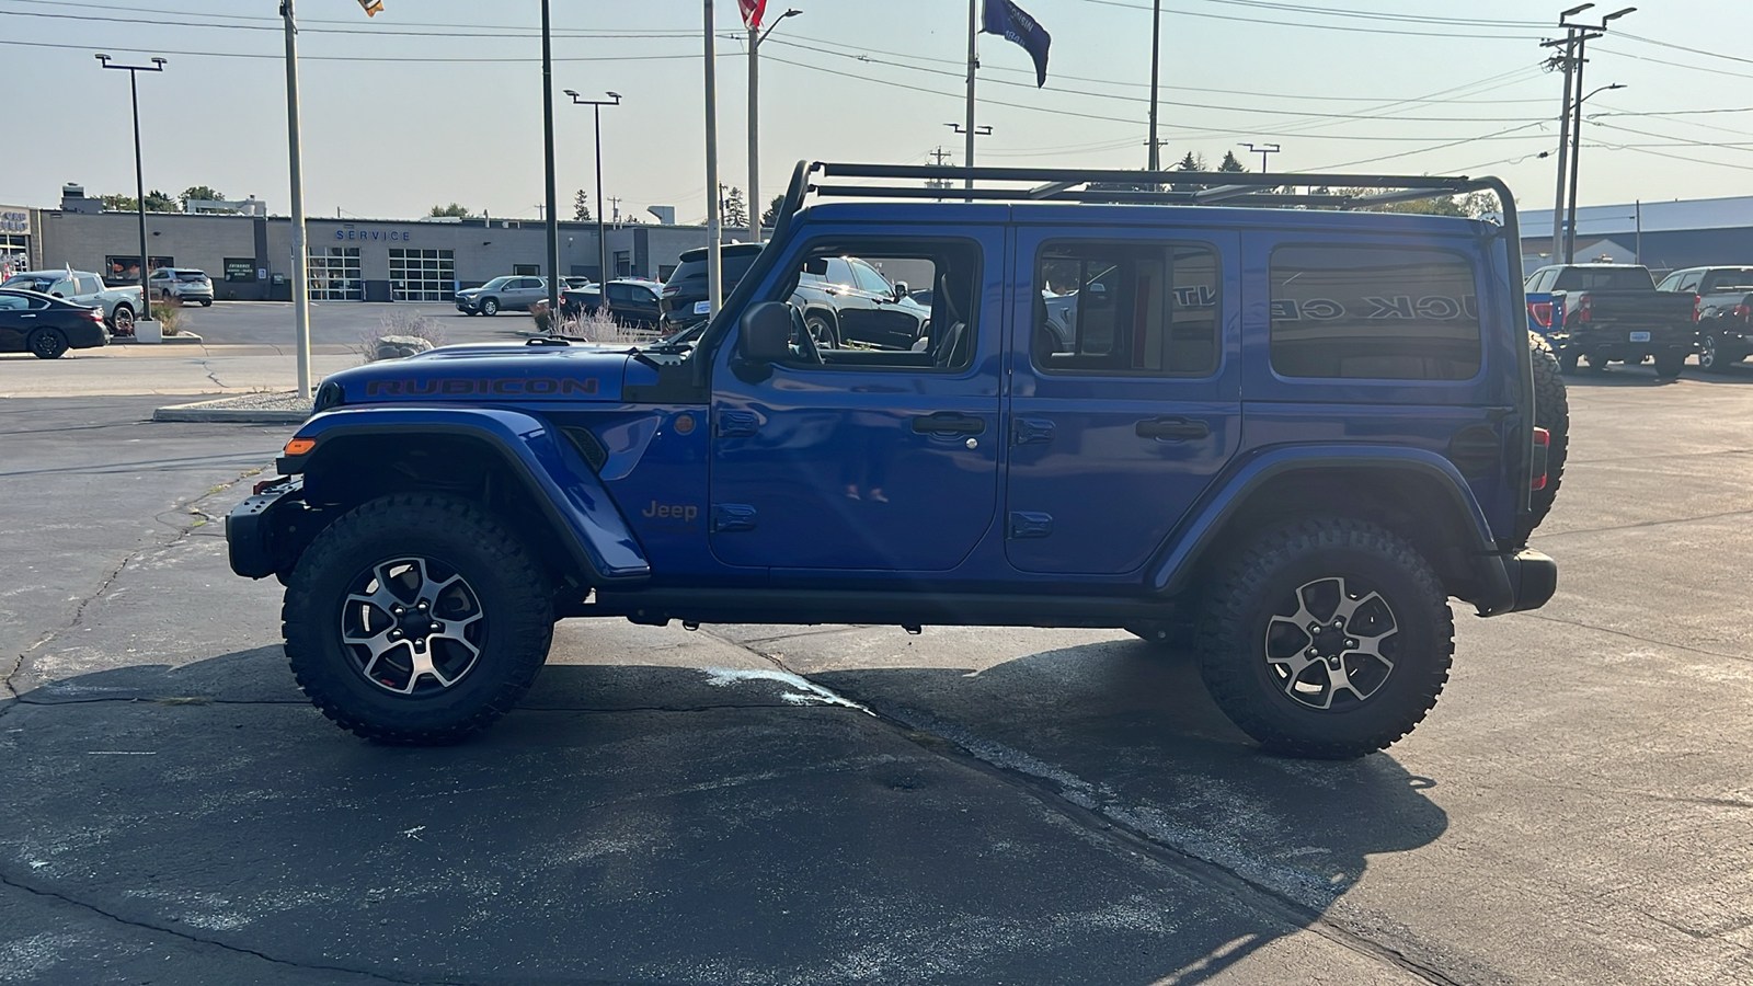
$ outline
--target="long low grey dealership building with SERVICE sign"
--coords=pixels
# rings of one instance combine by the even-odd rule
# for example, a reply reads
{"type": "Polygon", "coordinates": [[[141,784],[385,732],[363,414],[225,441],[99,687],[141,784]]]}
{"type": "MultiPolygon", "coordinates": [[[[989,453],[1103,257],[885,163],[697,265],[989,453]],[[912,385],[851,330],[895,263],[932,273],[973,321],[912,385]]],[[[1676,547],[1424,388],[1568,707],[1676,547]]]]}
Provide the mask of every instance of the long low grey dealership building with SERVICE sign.
{"type": "MultiPolygon", "coordinates": [[[[263,209],[265,211],[265,209],[263,209]]],[[[307,219],[310,298],[445,302],[501,274],[547,268],[547,226],[533,219],[307,219]]],[[[291,300],[293,223],[286,216],[145,214],[151,267],[196,267],[219,300],[291,300]]],[[[706,244],[703,226],[624,223],[607,228],[612,277],[663,281],[682,251],[706,244]]],[[[0,205],[0,263],[96,270],[133,281],[137,212],[105,212],[68,186],[60,209],[0,205]],[[9,254],[11,251],[11,254],[9,254]]],[[[600,281],[596,223],[559,225],[559,268],[600,281]]]]}

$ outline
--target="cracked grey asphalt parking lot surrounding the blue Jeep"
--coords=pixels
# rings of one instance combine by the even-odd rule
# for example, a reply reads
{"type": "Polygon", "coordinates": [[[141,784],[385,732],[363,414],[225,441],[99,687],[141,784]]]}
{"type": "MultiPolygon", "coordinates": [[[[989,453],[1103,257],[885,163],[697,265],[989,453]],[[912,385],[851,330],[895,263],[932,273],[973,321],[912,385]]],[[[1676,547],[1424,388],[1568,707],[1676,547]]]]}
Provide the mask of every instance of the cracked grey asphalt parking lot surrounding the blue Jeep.
{"type": "Polygon", "coordinates": [[[1124,633],[891,626],[568,621],[372,746],[224,563],[289,428],[0,400],[0,982],[1753,981],[1749,384],[1572,379],[1557,598],[1352,763],[1124,633]]]}

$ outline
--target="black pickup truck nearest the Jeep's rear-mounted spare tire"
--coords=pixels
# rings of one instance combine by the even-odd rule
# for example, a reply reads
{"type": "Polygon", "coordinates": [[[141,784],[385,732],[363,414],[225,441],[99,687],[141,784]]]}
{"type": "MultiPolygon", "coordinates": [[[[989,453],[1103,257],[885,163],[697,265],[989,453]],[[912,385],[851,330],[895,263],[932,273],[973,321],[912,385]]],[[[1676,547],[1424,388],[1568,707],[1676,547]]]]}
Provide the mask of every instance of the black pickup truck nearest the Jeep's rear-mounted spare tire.
{"type": "Polygon", "coordinates": [[[1648,267],[1560,263],[1527,281],[1529,328],[1551,342],[1564,370],[1581,360],[1602,370],[1655,358],[1657,377],[1678,377],[1697,346],[1690,297],[1657,291],[1648,267]]]}

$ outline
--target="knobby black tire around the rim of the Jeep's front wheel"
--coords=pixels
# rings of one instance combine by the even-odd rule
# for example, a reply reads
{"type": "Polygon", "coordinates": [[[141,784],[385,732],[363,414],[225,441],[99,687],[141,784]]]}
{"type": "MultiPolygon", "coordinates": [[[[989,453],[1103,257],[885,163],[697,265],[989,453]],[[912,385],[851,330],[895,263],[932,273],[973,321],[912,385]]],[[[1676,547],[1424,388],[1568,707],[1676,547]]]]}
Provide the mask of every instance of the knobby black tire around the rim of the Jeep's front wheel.
{"type": "Polygon", "coordinates": [[[456,742],[510,712],[554,633],[550,584],[529,549],[477,505],[429,493],[372,500],[317,535],[293,568],[280,619],[310,702],[345,730],[401,746],[456,742]],[[479,658],[436,691],[401,695],[366,679],[358,649],[342,642],[347,595],[400,558],[456,572],[479,598],[479,658]]]}

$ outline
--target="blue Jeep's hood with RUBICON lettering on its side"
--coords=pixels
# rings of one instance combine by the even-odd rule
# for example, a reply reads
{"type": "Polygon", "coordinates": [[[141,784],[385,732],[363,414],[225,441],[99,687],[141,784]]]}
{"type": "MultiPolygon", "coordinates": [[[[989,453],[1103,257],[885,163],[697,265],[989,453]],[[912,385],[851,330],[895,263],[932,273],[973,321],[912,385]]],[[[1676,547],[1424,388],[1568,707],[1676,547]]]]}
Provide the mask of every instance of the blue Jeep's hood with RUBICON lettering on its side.
{"type": "MultiPolygon", "coordinates": [[[[628,347],[608,346],[445,346],[403,360],[382,360],[331,374],[340,405],[398,402],[528,404],[621,400],[628,347]]],[[[330,391],[333,393],[333,391],[330,391]]],[[[333,397],[317,395],[324,411],[333,397]]]]}

